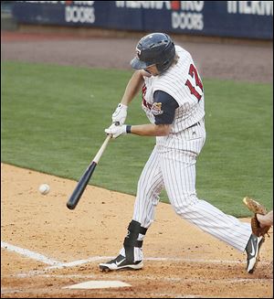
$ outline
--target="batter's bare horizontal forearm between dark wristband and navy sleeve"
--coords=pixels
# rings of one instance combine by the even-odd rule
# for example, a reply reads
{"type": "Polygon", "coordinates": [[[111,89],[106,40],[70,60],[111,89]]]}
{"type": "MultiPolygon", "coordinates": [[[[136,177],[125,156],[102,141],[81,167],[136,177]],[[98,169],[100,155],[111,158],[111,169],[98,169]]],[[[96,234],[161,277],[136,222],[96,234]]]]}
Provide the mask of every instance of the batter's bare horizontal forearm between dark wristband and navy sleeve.
{"type": "Polygon", "coordinates": [[[170,128],[169,124],[138,124],[132,125],[131,133],[141,136],[165,136],[170,133],[170,128]]]}

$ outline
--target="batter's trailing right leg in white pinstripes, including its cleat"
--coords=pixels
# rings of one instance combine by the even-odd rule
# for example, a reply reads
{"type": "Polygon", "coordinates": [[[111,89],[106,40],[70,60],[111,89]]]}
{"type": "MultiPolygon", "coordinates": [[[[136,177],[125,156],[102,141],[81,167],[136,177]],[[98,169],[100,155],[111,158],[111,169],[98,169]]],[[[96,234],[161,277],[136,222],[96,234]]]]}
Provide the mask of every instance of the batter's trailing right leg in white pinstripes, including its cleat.
{"type": "Polygon", "coordinates": [[[252,273],[264,238],[252,234],[249,223],[240,222],[196,197],[195,156],[191,153],[176,151],[162,156],[161,161],[164,185],[175,212],[237,250],[247,251],[247,271],[252,273]]]}

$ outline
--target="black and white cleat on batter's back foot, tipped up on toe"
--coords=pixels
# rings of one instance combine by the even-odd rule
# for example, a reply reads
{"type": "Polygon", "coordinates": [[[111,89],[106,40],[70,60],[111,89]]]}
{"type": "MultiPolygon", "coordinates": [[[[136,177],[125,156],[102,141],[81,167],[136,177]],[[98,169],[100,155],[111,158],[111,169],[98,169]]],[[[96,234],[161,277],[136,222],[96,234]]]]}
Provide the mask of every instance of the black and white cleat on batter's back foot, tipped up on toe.
{"type": "Polygon", "coordinates": [[[248,258],[247,258],[247,271],[248,273],[253,273],[255,270],[255,267],[258,263],[258,251],[262,245],[262,243],[264,242],[265,238],[262,237],[257,237],[256,235],[254,235],[253,233],[251,234],[249,240],[248,240],[248,244],[246,247],[246,251],[248,254],[248,258]]]}

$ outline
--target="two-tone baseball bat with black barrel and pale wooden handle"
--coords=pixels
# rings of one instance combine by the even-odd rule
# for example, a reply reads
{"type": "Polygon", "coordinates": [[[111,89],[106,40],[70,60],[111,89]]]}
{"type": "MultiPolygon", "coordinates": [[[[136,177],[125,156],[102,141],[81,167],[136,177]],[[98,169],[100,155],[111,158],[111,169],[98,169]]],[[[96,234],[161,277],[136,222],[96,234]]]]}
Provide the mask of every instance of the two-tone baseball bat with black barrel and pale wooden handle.
{"type": "Polygon", "coordinates": [[[86,169],[86,171],[83,173],[81,178],[79,179],[79,182],[77,186],[75,187],[74,191],[71,194],[71,197],[68,199],[67,207],[69,209],[74,209],[77,204],[79,203],[79,199],[81,198],[85,188],[87,187],[90,177],[92,176],[96,166],[98,165],[98,162],[100,160],[101,155],[103,154],[104,150],[106,149],[109,141],[111,140],[111,135],[108,135],[105,139],[104,143],[100,146],[100,150],[95,155],[94,159],[90,163],[90,166],[86,169]]]}

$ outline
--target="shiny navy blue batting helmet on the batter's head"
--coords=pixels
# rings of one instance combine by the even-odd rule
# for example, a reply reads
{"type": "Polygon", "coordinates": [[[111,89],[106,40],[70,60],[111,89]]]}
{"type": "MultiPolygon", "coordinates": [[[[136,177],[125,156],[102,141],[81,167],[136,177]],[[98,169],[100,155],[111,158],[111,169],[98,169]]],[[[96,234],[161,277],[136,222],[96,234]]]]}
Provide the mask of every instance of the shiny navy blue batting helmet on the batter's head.
{"type": "Polygon", "coordinates": [[[160,72],[168,69],[174,61],[174,42],[165,33],[152,33],[142,37],[136,47],[136,57],[132,59],[133,69],[145,69],[156,65],[160,72]]]}

